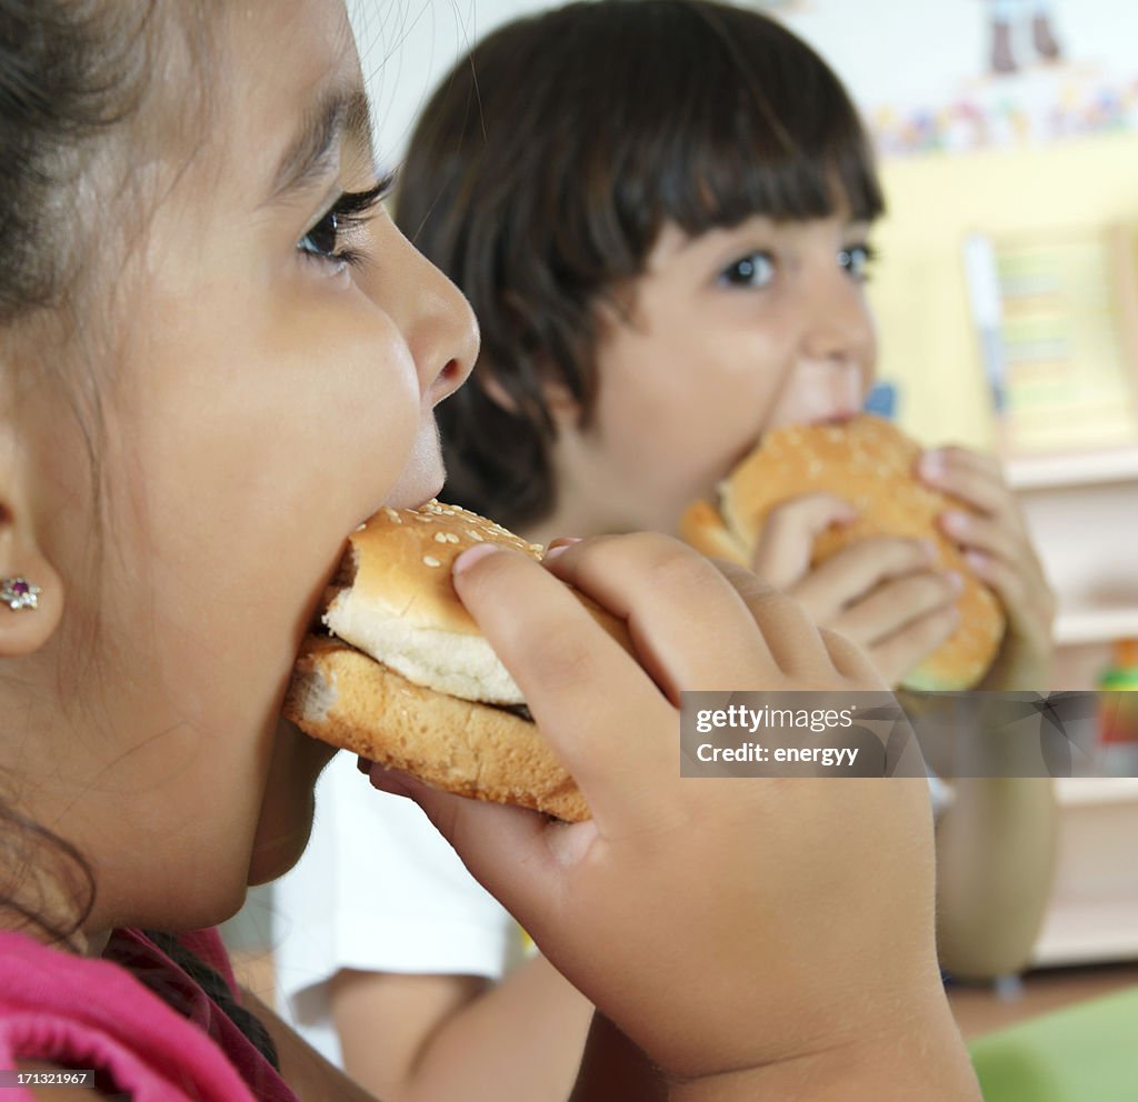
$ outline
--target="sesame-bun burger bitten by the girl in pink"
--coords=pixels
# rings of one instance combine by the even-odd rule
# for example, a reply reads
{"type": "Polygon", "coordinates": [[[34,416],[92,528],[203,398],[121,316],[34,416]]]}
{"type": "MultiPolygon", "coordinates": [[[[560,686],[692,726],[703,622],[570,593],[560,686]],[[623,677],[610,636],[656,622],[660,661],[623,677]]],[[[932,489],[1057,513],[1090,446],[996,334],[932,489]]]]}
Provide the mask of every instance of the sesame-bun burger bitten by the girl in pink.
{"type": "MultiPolygon", "coordinates": [[[[588,818],[513,678],[463,607],[451,569],[493,541],[543,548],[431,500],[384,508],[348,540],[320,632],[302,647],[284,714],[306,734],[462,796],[588,818]]],[[[630,649],[622,621],[574,590],[630,649]]]]}

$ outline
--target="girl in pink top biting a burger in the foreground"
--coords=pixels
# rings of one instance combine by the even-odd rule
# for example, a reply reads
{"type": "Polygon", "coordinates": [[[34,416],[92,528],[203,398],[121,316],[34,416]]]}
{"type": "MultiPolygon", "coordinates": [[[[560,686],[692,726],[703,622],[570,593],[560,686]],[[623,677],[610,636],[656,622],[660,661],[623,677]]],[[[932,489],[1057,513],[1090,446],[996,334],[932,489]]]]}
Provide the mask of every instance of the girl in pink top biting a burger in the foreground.
{"type": "MultiPolygon", "coordinates": [[[[0,31],[3,1085],[363,1097],[200,928],[304,845],[330,752],[279,719],[292,656],[345,533],[438,489],[431,409],[470,370],[470,313],[373,209],[339,0],[0,0],[0,31]]],[[[846,691],[875,683],[864,657],[662,537],[547,566],[479,550],[459,591],[595,818],[374,781],[422,802],[670,1097],[974,1099],[921,787],[676,776],[683,686],[846,691]],[[628,618],[651,676],[553,574],[628,618]]]]}

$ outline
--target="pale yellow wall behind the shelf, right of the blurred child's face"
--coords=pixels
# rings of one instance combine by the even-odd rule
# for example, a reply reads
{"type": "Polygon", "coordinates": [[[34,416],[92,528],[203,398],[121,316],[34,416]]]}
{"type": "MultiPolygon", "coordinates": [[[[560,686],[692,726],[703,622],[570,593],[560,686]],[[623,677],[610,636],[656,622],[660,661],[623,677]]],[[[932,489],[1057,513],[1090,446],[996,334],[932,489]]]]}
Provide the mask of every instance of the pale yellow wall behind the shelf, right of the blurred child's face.
{"type": "Polygon", "coordinates": [[[874,234],[881,264],[871,284],[880,375],[900,386],[899,417],[924,444],[991,447],[964,235],[1138,226],[1138,134],[894,159],[883,164],[882,176],[889,214],[874,234]]]}

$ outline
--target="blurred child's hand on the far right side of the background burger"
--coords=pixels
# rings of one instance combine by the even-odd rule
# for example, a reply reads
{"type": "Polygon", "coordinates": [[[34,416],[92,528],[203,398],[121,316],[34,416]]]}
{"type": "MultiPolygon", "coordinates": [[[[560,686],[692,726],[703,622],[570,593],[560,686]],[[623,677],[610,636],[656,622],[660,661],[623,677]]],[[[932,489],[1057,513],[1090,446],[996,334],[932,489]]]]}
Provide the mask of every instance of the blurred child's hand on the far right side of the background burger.
{"type": "Polygon", "coordinates": [[[1046,690],[1054,656],[1055,594],[999,462],[966,448],[946,447],[926,451],[920,471],[929,486],[979,509],[979,516],[948,511],[941,514],[940,524],[1007,613],[1004,645],[976,688],[1046,690]]]}

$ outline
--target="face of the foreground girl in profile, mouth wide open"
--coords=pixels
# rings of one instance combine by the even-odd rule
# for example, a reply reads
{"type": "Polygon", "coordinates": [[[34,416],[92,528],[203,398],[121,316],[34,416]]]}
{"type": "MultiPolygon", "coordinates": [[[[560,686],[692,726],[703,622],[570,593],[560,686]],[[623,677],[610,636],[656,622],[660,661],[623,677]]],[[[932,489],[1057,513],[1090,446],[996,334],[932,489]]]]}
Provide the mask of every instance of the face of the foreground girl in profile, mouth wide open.
{"type": "Polygon", "coordinates": [[[43,542],[67,615],[98,604],[100,649],[73,658],[68,757],[43,767],[38,811],[92,860],[93,923],[214,922],[298,855],[331,752],[279,720],[294,655],[346,535],[439,488],[431,409],[477,343],[385,214],[345,213],[376,177],[341,0],[217,23],[204,147],[137,166],[162,199],[100,374],[98,573],[67,570],[89,561],[76,430],[39,411],[67,506],[43,542]]]}

